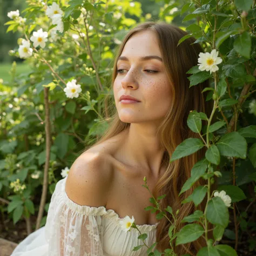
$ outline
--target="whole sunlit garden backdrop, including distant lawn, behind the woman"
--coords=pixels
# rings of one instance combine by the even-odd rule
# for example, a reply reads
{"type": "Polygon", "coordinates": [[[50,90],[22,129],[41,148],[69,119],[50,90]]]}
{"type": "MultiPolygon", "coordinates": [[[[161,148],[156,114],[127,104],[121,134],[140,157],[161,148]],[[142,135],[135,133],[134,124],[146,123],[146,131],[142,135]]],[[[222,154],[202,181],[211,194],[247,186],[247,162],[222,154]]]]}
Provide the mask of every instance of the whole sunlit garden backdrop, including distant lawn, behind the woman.
{"type": "MultiPolygon", "coordinates": [[[[202,131],[210,132],[213,144],[221,139],[226,144],[224,149],[219,143],[217,157],[214,152],[206,157],[213,167],[194,178],[210,182],[218,177],[218,190],[225,190],[232,199],[225,224],[207,217],[218,229],[208,248],[226,244],[237,255],[255,255],[255,1],[56,0],[62,6],[64,27],[55,35],[51,30],[56,24],[45,14],[46,5],[52,3],[1,0],[0,237],[19,242],[45,224],[57,181],[108,126],[111,107],[107,106],[114,102],[111,71],[118,45],[137,23],[160,20],[187,31],[186,38],[194,36],[205,51],[216,48],[223,58],[218,81],[210,72],[190,72],[191,86],[210,79],[206,100],[219,103],[218,122],[210,131],[206,127],[202,131]],[[25,21],[7,16],[16,10],[25,21]],[[41,28],[48,31],[46,46],[20,58],[22,40],[41,28]],[[72,79],[81,85],[79,97],[70,98],[63,90],[72,79]],[[233,137],[225,137],[230,132],[233,137]]],[[[190,116],[191,130],[200,132],[201,119],[190,116]]],[[[186,185],[191,187],[193,182],[186,185]]],[[[190,198],[200,203],[195,200],[190,198]]],[[[207,255],[236,255],[217,251],[207,255]]]]}

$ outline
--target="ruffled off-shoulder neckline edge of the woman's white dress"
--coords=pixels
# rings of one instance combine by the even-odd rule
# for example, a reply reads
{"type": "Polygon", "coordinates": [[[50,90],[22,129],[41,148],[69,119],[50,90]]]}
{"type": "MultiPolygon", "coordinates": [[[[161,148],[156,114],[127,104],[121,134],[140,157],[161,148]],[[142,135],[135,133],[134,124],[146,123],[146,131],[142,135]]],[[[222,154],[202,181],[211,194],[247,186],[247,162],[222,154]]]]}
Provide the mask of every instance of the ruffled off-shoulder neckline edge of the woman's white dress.
{"type": "MultiPolygon", "coordinates": [[[[62,190],[63,190],[63,194],[64,194],[64,197],[66,200],[69,201],[69,203],[73,206],[75,206],[77,209],[88,209],[90,212],[95,212],[96,215],[104,215],[105,217],[107,218],[114,218],[116,219],[116,222],[119,224],[119,221],[122,220],[123,218],[120,218],[119,217],[119,214],[117,212],[115,212],[114,210],[112,209],[106,209],[105,206],[98,206],[98,207],[95,207],[95,206],[88,206],[88,205],[78,205],[77,203],[75,203],[74,201],[72,201],[69,197],[68,197],[68,194],[66,194],[66,191],[65,191],[65,181],[66,181],[66,178],[68,176],[66,176],[65,178],[63,178],[63,184],[62,184],[62,190]]],[[[60,181],[60,180],[59,180],[60,181]]],[[[138,225],[136,224],[136,226],[140,229],[142,229],[143,232],[145,231],[151,231],[151,230],[154,230],[155,228],[157,228],[159,222],[157,222],[156,224],[153,224],[153,225],[150,225],[150,224],[143,224],[143,225],[138,225]]],[[[135,230],[137,231],[136,229],[132,229],[132,230],[135,230]]]]}

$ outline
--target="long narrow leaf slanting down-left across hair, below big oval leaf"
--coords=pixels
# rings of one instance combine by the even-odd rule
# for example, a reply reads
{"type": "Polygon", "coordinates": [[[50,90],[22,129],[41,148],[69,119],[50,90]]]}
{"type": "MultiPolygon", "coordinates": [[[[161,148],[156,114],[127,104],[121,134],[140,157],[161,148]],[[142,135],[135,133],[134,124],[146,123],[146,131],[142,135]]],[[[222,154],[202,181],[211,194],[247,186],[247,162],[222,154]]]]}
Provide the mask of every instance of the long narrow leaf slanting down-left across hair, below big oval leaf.
{"type": "Polygon", "coordinates": [[[181,191],[179,193],[182,194],[183,192],[187,191],[188,189],[193,186],[193,184],[206,172],[208,165],[208,160],[206,158],[201,159],[200,161],[197,161],[197,163],[193,166],[191,170],[191,177],[186,180],[183,187],[181,188],[181,191]]]}

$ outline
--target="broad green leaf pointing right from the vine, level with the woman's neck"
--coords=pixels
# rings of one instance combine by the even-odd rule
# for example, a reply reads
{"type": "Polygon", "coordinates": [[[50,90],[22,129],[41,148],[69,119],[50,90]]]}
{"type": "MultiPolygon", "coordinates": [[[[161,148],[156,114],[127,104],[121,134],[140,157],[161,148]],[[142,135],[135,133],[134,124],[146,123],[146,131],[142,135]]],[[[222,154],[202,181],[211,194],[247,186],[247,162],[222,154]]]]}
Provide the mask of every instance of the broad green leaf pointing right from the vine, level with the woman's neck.
{"type": "Polygon", "coordinates": [[[238,132],[225,134],[216,145],[221,156],[246,158],[247,142],[238,132]]]}

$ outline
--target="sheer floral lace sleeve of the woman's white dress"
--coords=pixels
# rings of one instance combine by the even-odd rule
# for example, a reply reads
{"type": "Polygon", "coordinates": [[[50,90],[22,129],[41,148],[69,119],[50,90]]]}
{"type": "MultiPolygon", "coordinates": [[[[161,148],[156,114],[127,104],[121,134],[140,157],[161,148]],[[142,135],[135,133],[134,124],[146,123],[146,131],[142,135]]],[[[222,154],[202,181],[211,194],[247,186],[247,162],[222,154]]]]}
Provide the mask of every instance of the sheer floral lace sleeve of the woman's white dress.
{"type": "Polygon", "coordinates": [[[65,179],[52,194],[45,225],[50,256],[103,255],[102,215],[105,207],[77,205],[65,193],[65,179]]]}

